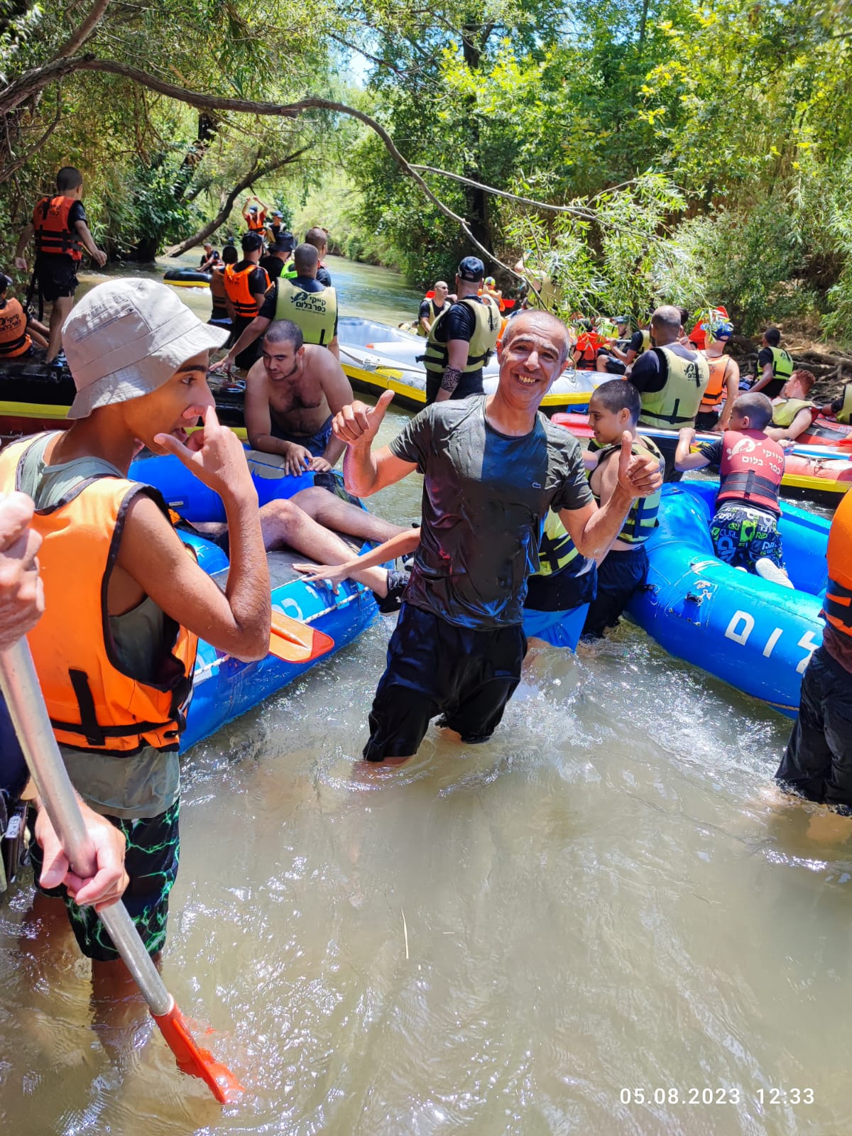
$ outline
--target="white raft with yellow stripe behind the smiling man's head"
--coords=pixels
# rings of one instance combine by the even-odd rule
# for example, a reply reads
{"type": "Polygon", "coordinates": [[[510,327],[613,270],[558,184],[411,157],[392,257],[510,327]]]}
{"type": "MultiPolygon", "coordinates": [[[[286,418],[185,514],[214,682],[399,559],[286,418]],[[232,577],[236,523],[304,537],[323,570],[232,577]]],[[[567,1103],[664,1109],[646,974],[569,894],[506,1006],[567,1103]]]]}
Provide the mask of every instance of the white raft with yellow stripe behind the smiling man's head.
{"type": "MultiPolygon", "coordinates": [[[[420,335],[389,327],[374,319],[342,316],[337,323],[341,366],[352,386],[378,398],[383,391],[394,392],[394,406],[423,410],[426,406],[426,368],[418,362],[426,340],[420,335]]],[[[496,356],[484,368],[486,394],[496,390],[499,366],[496,356]]],[[[566,370],[542,400],[542,410],[554,414],[586,410],[595,386],[611,378],[593,370],[566,370]]]]}

